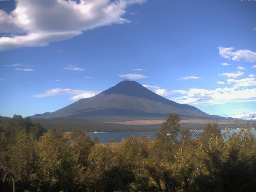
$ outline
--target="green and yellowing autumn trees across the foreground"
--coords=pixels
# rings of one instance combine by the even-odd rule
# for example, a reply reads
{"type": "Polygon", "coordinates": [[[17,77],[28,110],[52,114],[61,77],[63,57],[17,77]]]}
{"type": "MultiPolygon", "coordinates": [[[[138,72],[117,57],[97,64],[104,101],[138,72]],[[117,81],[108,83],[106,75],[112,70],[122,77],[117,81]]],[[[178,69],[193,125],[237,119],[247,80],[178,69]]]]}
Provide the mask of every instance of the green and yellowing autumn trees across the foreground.
{"type": "MultiPolygon", "coordinates": [[[[0,123],[0,175],[11,172],[16,191],[25,192],[250,192],[256,189],[252,129],[249,121],[222,135],[218,124],[207,124],[192,138],[170,114],[154,140],[96,144],[81,130],[45,132],[15,115],[0,123]]],[[[8,182],[3,191],[12,191],[8,182]]]]}

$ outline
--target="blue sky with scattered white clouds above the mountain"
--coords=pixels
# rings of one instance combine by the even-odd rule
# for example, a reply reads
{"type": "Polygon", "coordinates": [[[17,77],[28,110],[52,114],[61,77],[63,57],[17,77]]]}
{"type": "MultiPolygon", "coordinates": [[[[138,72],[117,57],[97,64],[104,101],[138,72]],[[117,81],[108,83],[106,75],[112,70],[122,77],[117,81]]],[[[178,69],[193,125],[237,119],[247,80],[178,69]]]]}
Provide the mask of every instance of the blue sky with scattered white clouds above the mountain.
{"type": "Polygon", "coordinates": [[[0,1],[0,115],[124,80],[208,114],[256,114],[256,1],[0,1]]]}

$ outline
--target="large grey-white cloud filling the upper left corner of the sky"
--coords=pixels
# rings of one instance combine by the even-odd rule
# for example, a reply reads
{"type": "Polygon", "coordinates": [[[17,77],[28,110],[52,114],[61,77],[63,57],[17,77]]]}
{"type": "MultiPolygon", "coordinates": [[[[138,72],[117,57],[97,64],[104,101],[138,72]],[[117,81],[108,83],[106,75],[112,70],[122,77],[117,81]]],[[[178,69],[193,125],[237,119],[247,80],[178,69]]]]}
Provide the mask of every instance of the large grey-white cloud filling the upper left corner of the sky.
{"type": "Polygon", "coordinates": [[[10,14],[0,10],[0,32],[8,34],[0,37],[0,50],[47,46],[100,26],[129,23],[122,18],[126,8],[145,1],[16,0],[10,14]]]}

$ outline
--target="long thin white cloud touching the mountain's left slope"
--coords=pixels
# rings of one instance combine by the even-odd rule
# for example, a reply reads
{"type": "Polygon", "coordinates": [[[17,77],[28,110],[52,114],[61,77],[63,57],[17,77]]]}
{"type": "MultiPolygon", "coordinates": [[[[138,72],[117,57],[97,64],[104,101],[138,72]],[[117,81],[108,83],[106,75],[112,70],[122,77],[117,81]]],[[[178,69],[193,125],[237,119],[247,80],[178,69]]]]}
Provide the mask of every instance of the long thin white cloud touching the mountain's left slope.
{"type": "Polygon", "coordinates": [[[81,99],[81,98],[89,98],[89,97],[95,96],[96,94],[98,94],[98,92],[55,88],[55,89],[47,90],[43,94],[34,95],[34,97],[44,98],[44,97],[54,96],[54,95],[58,95],[58,94],[76,95],[76,96],[71,97],[70,100],[78,100],[78,99],[81,99]]]}

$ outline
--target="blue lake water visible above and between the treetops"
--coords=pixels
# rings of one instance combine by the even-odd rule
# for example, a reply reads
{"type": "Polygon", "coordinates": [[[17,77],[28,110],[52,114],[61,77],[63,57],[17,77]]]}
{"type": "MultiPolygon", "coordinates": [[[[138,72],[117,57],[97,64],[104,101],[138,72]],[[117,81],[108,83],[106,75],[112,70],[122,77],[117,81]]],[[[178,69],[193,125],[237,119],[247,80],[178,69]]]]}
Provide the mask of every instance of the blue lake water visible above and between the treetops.
{"type": "MultiPolygon", "coordinates": [[[[235,132],[239,132],[240,129],[230,129],[230,134],[234,134],[235,132]]],[[[226,130],[221,130],[222,134],[226,132],[226,130]]],[[[252,130],[253,134],[256,136],[256,130],[252,130]]],[[[192,136],[196,136],[197,134],[202,133],[202,130],[196,130],[192,132],[192,136]]],[[[128,138],[132,135],[134,135],[136,138],[138,138],[141,135],[144,136],[150,136],[151,139],[156,138],[155,132],[108,132],[108,133],[88,133],[91,138],[94,136],[98,137],[100,139],[100,142],[106,143],[110,142],[110,139],[114,139],[115,142],[122,141],[122,138],[128,138]]]]}

